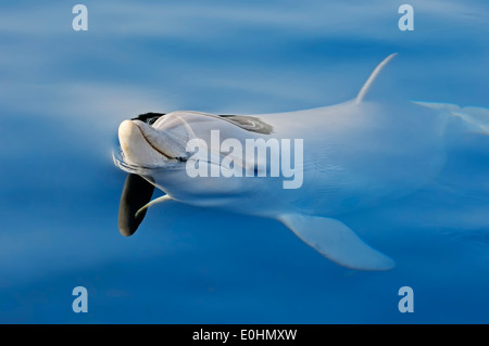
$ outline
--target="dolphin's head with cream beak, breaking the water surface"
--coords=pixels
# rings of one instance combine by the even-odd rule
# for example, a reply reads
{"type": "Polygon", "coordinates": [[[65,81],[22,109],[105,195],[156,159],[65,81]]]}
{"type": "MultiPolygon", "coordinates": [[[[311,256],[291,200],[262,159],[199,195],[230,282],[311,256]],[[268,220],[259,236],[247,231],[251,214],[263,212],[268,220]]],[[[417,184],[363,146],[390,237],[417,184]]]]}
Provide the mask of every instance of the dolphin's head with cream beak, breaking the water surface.
{"type": "Polygon", "coordinates": [[[181,202],[204,205],[223,203],[244,188],[249,190],[250,181],[192,177],[187,170],[188,164],[196,157],[195,151],[187,151],[187,144],[196,139],[208,143],[205,150],[199,153],[208,161],[200,161],[200,165],[208,165],[210,170],[211,166],[221,166],[223,156],[212,153],[211,148],[212,132],[215,130],[218,130],[221,140],[243,142],[248,138],[269,133],[272,128],[246,116],[216,116],[198,112],[148,113],[121,123],[121,151],[114,152],[114,162],[123,170],[147,178],[181,202]]]}

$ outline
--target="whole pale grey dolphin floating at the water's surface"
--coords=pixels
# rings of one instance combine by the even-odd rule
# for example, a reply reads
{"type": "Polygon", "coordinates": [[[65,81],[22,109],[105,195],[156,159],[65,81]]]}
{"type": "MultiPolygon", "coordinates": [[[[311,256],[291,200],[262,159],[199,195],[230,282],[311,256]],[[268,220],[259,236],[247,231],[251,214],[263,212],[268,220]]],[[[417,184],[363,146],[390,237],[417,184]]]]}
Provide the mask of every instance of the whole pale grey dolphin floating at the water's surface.
{"type": "MultiPolygon", "coordinates": [[[[115,164],[129,172],[121,198],[120,231],[133,234],[146,209],[174,200],[201,207],[276,219],[330,260],[352,269],[387,270],[394,261],[365,244],[341,215],[402,197],[431,180],[444,161],[443,133],[450,119],[469,119],[487,133],[489,114],[442,103],[408,103],[403,107],[364,100],[380,69],[372,73],[355,99],[304,111],[216,116],[199,112],[149,113],[124,120],[118,128],[121,151],[115,164]],[[437,110],[436,112],[432,108],[437,110]],[[283,178],[190,177],[192,139],[302,139],[303,182],[284,189],[283,178]],[[158,188],[165,195],[151,198],[158,188]]],[[[223,155],[208,154],[209,166],[221,167],[223,155]]],[[[265,154],[266,155],[266,154],[265,154]]],[[[255,171],[267,169],[259,157],[255,171]]],[[[236,164],[236,163],[235,163],[236,164]]],[[[239,163],[238,163],[239,164],[239,163]]],[[[249,167],[244,167],[249,168],[249,167]]]]}

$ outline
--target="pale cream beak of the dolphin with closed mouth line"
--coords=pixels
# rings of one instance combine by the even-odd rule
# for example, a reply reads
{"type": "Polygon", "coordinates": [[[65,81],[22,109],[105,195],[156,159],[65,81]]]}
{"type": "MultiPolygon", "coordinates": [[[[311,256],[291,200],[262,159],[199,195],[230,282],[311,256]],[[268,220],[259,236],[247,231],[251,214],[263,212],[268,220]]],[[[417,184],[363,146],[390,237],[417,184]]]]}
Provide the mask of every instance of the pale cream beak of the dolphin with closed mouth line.
{"type": "Polygon", "coordinates": [[[181,140],[140,120],[122,121],[118,126],[118,141],[129,164],[159,165],[162,159],[186,156],[181,140]]]}

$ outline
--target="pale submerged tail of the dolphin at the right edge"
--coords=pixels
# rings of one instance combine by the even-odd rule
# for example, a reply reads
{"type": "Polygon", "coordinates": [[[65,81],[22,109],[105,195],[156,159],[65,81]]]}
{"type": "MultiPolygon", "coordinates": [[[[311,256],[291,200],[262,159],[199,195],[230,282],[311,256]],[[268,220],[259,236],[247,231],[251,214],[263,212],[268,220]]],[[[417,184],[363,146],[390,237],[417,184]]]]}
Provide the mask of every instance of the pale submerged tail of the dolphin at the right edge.
{"type": "Polygon", "coordinates": [[[466,125],[468,131],[489,134],[489,108],[484,107],[461,107],[452,103],[439,102],[421,102],[412,101],[415,104],[422,105],[437,111],[448,112],[452,116],[460,117],[466,125]]]}

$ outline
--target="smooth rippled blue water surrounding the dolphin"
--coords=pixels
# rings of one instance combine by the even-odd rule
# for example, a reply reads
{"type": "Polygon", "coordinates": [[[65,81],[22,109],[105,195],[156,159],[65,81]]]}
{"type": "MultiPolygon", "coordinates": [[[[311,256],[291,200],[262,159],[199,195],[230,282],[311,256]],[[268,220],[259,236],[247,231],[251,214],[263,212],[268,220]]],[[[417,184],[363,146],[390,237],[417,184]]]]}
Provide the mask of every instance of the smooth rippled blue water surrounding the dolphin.
{"type": "Polygon", "coordinates": [[[487,2],[411,1],[414,31],[401,1],[83,3],[88,31],[75,3],[0,3],[0,322],[489,322],[488,136],[459,138],[415,194],[342,219],[396,260],[386,272],[339,267],[273,220],[173,202],[123,238],[111,158],[137,114],[335,104],[392,52],[373,97],[489,107],[487,2]]]}

